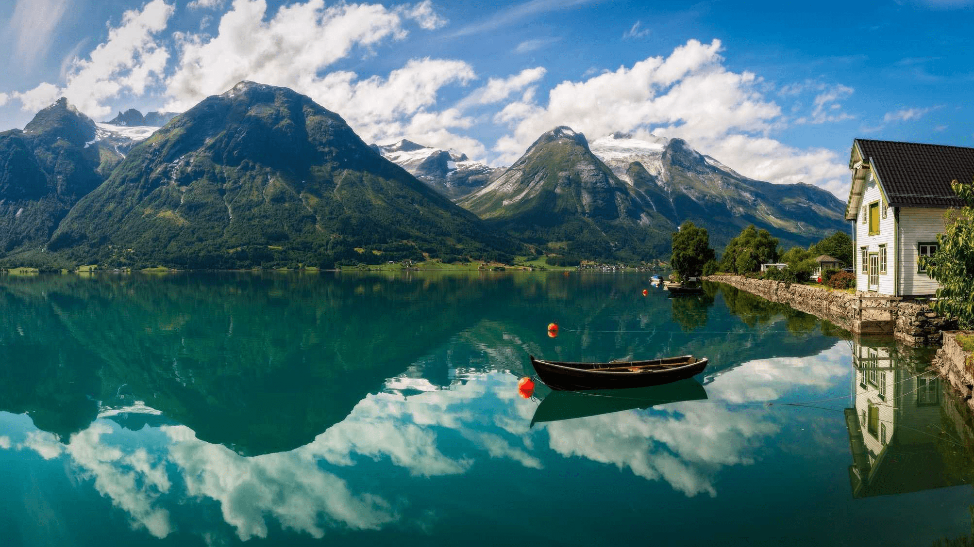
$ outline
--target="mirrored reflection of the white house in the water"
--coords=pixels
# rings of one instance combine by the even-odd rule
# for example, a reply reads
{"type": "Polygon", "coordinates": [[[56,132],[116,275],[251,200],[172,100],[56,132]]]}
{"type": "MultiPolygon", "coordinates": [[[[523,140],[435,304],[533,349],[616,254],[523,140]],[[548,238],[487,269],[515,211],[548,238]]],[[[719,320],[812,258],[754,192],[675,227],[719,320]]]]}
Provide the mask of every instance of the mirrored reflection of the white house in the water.
{"type": "Polygon", "coordinates": [[[854,408],[845,409],[854,497],[961,484],[938,450],[940,383],[900,362],[893,346],[852,345],[854,408]],[[930,425],[934,428],[931,429],[930,425]]]}

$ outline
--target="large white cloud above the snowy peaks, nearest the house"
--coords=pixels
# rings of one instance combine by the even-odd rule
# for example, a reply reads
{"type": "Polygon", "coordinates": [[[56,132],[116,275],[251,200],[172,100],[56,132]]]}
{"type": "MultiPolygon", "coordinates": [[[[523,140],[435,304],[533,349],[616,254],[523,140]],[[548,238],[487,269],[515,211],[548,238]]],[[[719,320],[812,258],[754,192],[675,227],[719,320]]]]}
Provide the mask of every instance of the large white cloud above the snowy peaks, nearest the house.
{"type": "MultiPolygon", "coordinates": [[[[581,82],[562,82],[548,92],[546,104],[509,102],[494,120],[507,124],[511,133],[498,139],[494,150],[501,163],[509,164],[538,135],[562,125],[592,139],[617,130],[646,130],[684,138],[701,153],[753,178],[801,180],[843,194],[847,169],[839,155],[771,138],[786,125],[781,108],[765,94],[768,87],[757,75],[729,71],[720,52],[719,40],[691,40],[667,57],[649,57],[581,82]]],[[[820,104],[827,109],[849,92],[841,85],[823,89],[820,104]]]]}

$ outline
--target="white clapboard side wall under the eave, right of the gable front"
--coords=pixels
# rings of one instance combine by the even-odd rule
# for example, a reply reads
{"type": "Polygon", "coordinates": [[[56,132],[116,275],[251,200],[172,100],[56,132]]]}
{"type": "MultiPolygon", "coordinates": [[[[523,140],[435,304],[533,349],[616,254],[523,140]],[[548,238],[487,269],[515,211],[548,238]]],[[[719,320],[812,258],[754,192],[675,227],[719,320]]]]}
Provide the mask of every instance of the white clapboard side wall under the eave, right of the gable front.
{"type": "Polygon", "coordinates": [[[918,274],[918,243],[933,242],[944,233],[947,209],[903,207],[900,209],[900,294],[931,295],[939,286],[927,274],[918,274]]]}

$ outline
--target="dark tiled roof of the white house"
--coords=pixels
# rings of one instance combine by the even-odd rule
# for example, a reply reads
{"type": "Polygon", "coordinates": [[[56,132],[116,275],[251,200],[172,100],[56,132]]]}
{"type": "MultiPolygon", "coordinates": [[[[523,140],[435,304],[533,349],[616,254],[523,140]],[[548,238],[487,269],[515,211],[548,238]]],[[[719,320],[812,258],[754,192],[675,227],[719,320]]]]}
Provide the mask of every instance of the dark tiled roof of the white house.
{"type": "Polygon", "coordinates": [[[974,148],[891,140],[855,139],[872,161],[892,206],[955,207],[963,202],[951,181],[974,179],[974,148]]]}

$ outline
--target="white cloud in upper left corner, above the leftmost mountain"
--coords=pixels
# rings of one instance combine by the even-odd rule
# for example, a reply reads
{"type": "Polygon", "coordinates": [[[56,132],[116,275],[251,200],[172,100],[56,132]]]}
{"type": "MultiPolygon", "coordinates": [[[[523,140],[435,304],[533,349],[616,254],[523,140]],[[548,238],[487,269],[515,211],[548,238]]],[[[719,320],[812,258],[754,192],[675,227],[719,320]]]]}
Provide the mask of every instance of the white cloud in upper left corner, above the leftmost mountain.
{"type": "Polygon", "coordinates": [[[58,96],[66,96],[79,110],[92,117],[111,113],[106,99],[123,91],[140,95],[163,74],[169,52],[156,44],[154,36],[166,28],[173,7],[153,0],[141,11],[131,10],[122,23],[108,30],[108,40],[98,45],[88,59],[75,59],[66,85],[43,83],[30,91],[15,92],[23,110],[43,108],[58,96]]]}

